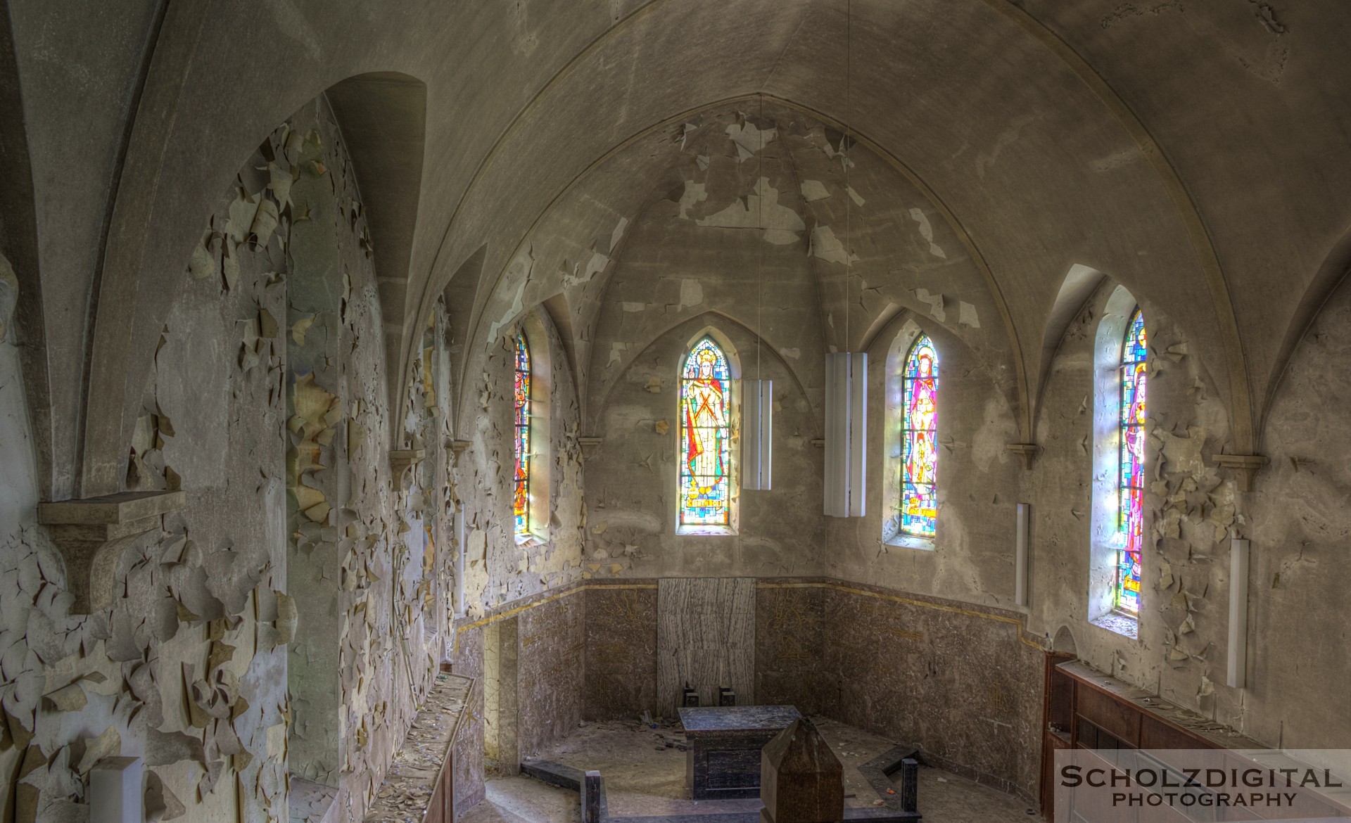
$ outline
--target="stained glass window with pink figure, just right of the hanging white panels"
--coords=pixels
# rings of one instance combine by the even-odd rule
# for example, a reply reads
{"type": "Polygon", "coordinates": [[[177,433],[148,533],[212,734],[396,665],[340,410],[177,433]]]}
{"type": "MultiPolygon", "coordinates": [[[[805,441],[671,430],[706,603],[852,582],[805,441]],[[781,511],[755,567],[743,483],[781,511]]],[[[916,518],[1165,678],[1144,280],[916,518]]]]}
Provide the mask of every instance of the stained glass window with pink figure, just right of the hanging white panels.
{"type": "Polygon", "coordinates": [[[938,351],[921,334],[905,355],[901,395],[901,534],[938,534],[938,351]]]}

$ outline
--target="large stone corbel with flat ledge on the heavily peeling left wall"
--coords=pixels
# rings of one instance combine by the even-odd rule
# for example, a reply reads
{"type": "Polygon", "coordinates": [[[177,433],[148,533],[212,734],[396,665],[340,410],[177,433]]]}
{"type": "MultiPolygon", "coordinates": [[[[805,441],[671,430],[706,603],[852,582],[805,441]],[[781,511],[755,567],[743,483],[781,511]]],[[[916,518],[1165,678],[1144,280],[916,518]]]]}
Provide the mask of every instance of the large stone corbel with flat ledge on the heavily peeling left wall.
{"type": "Polygon", "coordinates": [[[89,615],[112,605],[115,572],[136,538],[161,527],[168,512],[182,511],[182,492],[122,492],[84,500],[38,504],[38,523],[66,564],[70,614],[89,615]]]}

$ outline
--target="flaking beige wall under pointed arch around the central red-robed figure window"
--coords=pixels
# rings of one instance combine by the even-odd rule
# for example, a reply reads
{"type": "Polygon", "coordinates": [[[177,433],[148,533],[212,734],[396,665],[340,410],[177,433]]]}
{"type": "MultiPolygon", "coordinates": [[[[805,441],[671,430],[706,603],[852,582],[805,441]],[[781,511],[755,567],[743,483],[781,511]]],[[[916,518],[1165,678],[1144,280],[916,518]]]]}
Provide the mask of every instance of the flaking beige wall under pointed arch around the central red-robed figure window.
{"type": "MultiPolygon", "coordinates": [[[[630,361],[607,399],[604,442],[588,458],[586,578],[744,577],[816,568],[813,547],[824,537],[817,511],[821,451],[809,441],[817,423],[792,373],[770,354],[761,361],[761,376],[775,389],[774,488],[736,496],[735,535],[676,534],[678,374],[686,345],[705,326],[731,342],[742,374],[755,373],[755,339],[717,316],[686,320],[630,361]]],[[[732,449],[739,447],[734,439],[732,449]]]]}

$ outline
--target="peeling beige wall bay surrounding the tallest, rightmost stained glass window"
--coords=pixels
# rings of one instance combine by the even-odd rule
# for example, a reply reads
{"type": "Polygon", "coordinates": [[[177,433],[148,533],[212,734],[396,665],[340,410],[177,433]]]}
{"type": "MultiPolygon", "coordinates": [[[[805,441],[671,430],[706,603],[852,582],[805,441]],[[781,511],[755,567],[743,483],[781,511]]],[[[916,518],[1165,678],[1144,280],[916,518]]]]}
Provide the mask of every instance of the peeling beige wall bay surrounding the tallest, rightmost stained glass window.
{"type": "MultiPolygon", "coordinates": [[[[1051,638],[1067,626],[1078,655],[1093,666],[1252,735],[1244,693],[1223,685],[1228,535],[1250,523],[1238,509],[1232,474],[1210,459],[1212,453],[1232,450],[1228,416],[1206,364],[1189,353],[1186,330],[1146,300],[1150,437],[1139,638],[1089,622],[1090,578],[1094,591],[1111,585],[1108,574],[1092,574],[1090,559],[1093,408],[1101,364],[1094,341],[1115,288],[1098,288],[1052,364],[1038,430],[1043,453],[1025,484],[1034,505],[1028,627],[1051,638]]],[[[1115,472],[1116,464],[1097,469],[1115,472]]]]}

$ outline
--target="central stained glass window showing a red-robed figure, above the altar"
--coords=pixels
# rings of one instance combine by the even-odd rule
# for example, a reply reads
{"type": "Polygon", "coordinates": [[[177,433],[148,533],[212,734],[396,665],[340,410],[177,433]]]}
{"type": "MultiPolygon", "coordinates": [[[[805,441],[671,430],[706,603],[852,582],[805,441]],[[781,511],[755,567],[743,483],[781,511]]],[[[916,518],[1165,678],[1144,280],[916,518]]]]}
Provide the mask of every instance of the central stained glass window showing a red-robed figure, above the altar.
{"type": "Polygon", "coordinates": [[[685,357],[680,405],[680,524],[731,526],[731,370],[711,338],[685,357]]]}

